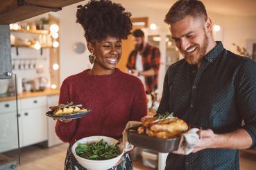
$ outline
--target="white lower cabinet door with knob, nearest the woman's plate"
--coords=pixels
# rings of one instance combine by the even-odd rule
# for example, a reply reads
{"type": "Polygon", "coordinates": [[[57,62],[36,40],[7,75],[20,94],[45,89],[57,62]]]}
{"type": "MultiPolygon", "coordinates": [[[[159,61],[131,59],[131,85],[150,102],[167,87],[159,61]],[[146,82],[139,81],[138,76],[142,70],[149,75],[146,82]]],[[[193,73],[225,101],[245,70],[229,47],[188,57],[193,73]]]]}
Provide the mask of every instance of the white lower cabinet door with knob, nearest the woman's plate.
{"type": "Polygon", "coordinates": [[[47,140],[46,108],[31,108],[22,111],[22,146],[47,140]]]}

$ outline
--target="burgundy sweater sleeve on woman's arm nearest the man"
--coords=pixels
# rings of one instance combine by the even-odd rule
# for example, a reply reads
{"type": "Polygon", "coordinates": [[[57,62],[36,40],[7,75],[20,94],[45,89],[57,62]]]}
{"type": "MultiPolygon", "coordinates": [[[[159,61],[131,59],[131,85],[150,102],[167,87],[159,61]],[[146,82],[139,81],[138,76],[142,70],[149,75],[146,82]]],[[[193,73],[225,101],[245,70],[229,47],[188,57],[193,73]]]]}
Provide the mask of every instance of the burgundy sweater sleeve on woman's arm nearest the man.
{"type": "Polygon", "coordinates": [[[142,82],[139,81],[133,99],[130,120],[140,121],[146,115],[146,111],[146,92],[142,82]]]}

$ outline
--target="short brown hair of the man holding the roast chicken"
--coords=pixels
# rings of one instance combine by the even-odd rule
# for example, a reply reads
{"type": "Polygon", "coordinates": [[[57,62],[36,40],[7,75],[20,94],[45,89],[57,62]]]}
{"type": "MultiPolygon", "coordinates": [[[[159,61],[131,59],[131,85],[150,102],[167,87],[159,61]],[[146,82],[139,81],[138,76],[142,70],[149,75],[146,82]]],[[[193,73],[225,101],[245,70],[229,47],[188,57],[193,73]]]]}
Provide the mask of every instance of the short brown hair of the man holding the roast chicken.
{"type": "Polygon", "coordinates": [[[164,22],[176,23],[187,15],[191,17],[205,17],[207,19],[207,12],[205,6],[198,0],[179,0],[171,6],[171,9],[165,16],[164,22]]]}

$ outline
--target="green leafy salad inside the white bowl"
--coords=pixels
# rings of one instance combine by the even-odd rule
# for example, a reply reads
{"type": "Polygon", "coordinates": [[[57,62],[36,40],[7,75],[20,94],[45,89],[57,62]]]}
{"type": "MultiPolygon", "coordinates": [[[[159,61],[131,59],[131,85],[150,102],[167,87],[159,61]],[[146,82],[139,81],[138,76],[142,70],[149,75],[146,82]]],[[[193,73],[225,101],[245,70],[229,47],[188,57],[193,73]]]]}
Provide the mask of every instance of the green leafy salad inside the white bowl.
{"type": "Polygon", "coordinates": [[[89,144],[78,144],[76,154],[88,160],[108,160],[120,155],[117,144],[109,145],[103,139],[89,144]]]}

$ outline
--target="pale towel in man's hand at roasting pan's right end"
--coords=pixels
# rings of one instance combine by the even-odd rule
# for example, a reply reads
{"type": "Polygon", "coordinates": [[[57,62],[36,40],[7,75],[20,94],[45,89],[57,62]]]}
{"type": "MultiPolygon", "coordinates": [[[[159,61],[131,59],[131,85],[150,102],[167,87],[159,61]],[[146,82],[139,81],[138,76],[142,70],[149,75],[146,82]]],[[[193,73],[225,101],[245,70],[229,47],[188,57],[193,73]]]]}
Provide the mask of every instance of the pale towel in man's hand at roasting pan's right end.
{"type": "Polygon", "coordinates": [[[178,152],[183,153],[185,155],[189,155],[194,149],[194,146],[200,142],[201,138],[197,134],[199,129],[192,128],[186,133],[183,133],[180,138],[180,144],[178,147],[178,152]]]}

